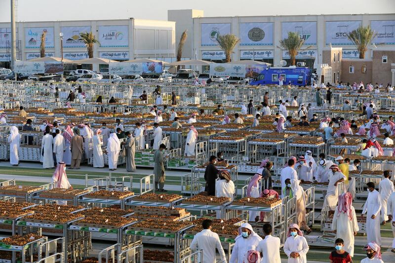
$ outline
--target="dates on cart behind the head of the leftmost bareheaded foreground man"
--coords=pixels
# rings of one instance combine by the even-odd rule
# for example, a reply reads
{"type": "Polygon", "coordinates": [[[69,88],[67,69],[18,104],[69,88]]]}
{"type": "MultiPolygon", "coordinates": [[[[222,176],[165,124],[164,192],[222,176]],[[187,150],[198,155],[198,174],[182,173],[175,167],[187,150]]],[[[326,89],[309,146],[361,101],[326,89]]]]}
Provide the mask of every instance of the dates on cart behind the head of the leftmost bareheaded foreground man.
{"type": "MultiPolygon", "coordinates": [[[[203,230],[201,223],[204,218],[199,218],[194,221],[195,226],[188,229],[184,234],[184,238],[193,239],[195,235],[203,230]]],[[[213,219],[211,231],[217,233],[222,242],[235,243],[235,238],[238,235],[238,228],[240,227],[240,220],[233,218],[230,220],[213,219]]]]}

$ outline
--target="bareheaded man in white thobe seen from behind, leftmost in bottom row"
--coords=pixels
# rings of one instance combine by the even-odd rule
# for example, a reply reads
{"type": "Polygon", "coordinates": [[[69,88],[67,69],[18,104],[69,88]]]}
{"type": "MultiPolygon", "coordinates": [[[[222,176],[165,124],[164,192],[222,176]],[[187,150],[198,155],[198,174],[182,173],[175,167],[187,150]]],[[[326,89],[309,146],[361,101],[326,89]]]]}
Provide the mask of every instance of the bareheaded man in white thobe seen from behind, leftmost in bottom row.
{"type": "Polygon", "coordinates": [[[219,236],[217,233],[211,231],[212,221],[209,219],[203,220],[201,225],[203,226],[203,230],[195,235],[190,248],[193,251],[203,250],[203,260],[201,262],[204,263],[216,263],[215,249],[218,249],[222,263],[226,263],[225,252],[222,248],[219,236]]]}

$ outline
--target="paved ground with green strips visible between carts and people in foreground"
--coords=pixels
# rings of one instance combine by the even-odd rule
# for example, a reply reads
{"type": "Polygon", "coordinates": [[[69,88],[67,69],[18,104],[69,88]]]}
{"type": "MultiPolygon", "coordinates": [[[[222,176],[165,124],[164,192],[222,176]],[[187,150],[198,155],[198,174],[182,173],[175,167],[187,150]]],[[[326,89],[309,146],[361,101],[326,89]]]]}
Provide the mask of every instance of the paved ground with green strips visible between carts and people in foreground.
{"type": "MultiPolygon", "coordinates": [[[[0,162],[0,181],[15,179],[19,184],[22,185],[42,185],[45,183],[52,182],[52,174],[54,169],[42,169],[42,166],[39,163],[21,163],[19,167],[11,167],[9,162],[0,162]]],[[[118,168],[117,171],[111,172],[112,177],[118,176],[133,176],[133,188],[135,191],[138,191],[139,188],[139,178],[143,176],[152,174],[152,168],[139,168],[135,173],[128,173],[124,166],[118,168]]],[[[181,177],[187,174],[188,171],[174,171],[174,170],[166,170],[166,185],[165,189],[170,192],[179,192],[181,190],[180,181],[181,177]]],[[[85,185],[93,185],[93,179],[97,179],[100,177],[105,177],[110,175],[110,171],[108,168],[97,169],[88,166],[81,166],[80,170],[67,170],[67,175],[70,183],[75,188],[84,188],[85,185]],[[87,180],[86,180],[87,178],[87,180]]],[[[241,186],[244,183],[244,180],[247,179],[250,175],[239,175],[238,176],[238,185],[241,186]]],[[[240,194],[240,191],[239,191],[240,194]]],[[[319,199],[320,194],[316,194],[316,206],[319,206],[322,202],[322,199],[319,199]]],[[[356,200],[355,207],[356,211],[360,210],[362,207],[364,200],[356,200]]],[[[316,213],[316,219],[320,218],[320,214],[316,213]]],[[[319,225],[315,225],[316,231],[311,233],[311,235],[319,235],[319,225]]],[[[395,254],[391,253],[391,245],[392,245],[392,231],[389,224],[382,226],[381,234],[383,237],[382,244],[382,252],[383,252],[383,261],[385,263],[395,263],[395,254]]],[[[359,263],[361,259],[365,256],[363,251],[363,246],[366,243],[365,236],[357,236],[356,237],[356,252],[354,257],[354,262],[359,263]]],[[[113,244],[110,241],[103,242],[94,242],[95,251],[99,250],[113,244]]],[[[155,248],[155,249],[167,249],[164,246],[158,245],[146,245],[146,247],[155,248]]],[[[329,253],[333,250],[332,247],[313,247],[311,246],[310,251],[308,253],[308,262],[316,263],[316,262],[329,262],[328,256],[329,253]]],[[[281,253],[282,262],[286,261],[286,255],[281,253]]]]}

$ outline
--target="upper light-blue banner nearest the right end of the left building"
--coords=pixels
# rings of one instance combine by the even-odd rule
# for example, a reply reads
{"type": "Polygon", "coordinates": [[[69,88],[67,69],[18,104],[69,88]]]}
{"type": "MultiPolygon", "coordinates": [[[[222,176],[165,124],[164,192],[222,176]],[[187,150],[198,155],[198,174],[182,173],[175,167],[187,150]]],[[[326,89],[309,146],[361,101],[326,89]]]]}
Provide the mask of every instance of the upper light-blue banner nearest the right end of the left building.
{"type": "Polygon", "coordinates": [[[128,26],[99,26],[101,47],[128,46],[128,26]]]}

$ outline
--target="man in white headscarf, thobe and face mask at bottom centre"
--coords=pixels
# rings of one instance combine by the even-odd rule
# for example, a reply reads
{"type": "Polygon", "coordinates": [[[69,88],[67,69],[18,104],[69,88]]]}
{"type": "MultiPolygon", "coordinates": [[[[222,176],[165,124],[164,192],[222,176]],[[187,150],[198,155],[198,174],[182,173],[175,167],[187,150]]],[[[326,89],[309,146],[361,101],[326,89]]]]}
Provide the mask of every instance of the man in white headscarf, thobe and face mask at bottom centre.
{"type": "Polygon", "coordinates": [[[235,238],[236,242],[229,263],[243,263],[245,253],[248,250],[256,250],[259,242],[262,240],[262,237],[256,234],[248,223],[241,224],[239,233],[235,238]]]}

